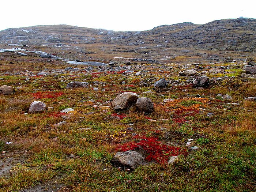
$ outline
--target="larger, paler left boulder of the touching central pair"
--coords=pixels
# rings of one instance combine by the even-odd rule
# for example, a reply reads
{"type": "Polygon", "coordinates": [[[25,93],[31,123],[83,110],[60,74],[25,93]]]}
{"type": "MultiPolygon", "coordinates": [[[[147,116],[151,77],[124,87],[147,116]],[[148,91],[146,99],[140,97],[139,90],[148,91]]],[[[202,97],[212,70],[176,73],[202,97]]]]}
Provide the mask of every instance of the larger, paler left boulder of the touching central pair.
{"type": "Polygon", "coordinates": [[[132,92],[124,92],[118,95],[111,103],[114,109],[126,109],[136,103],[138,95],[132,92]]]}

